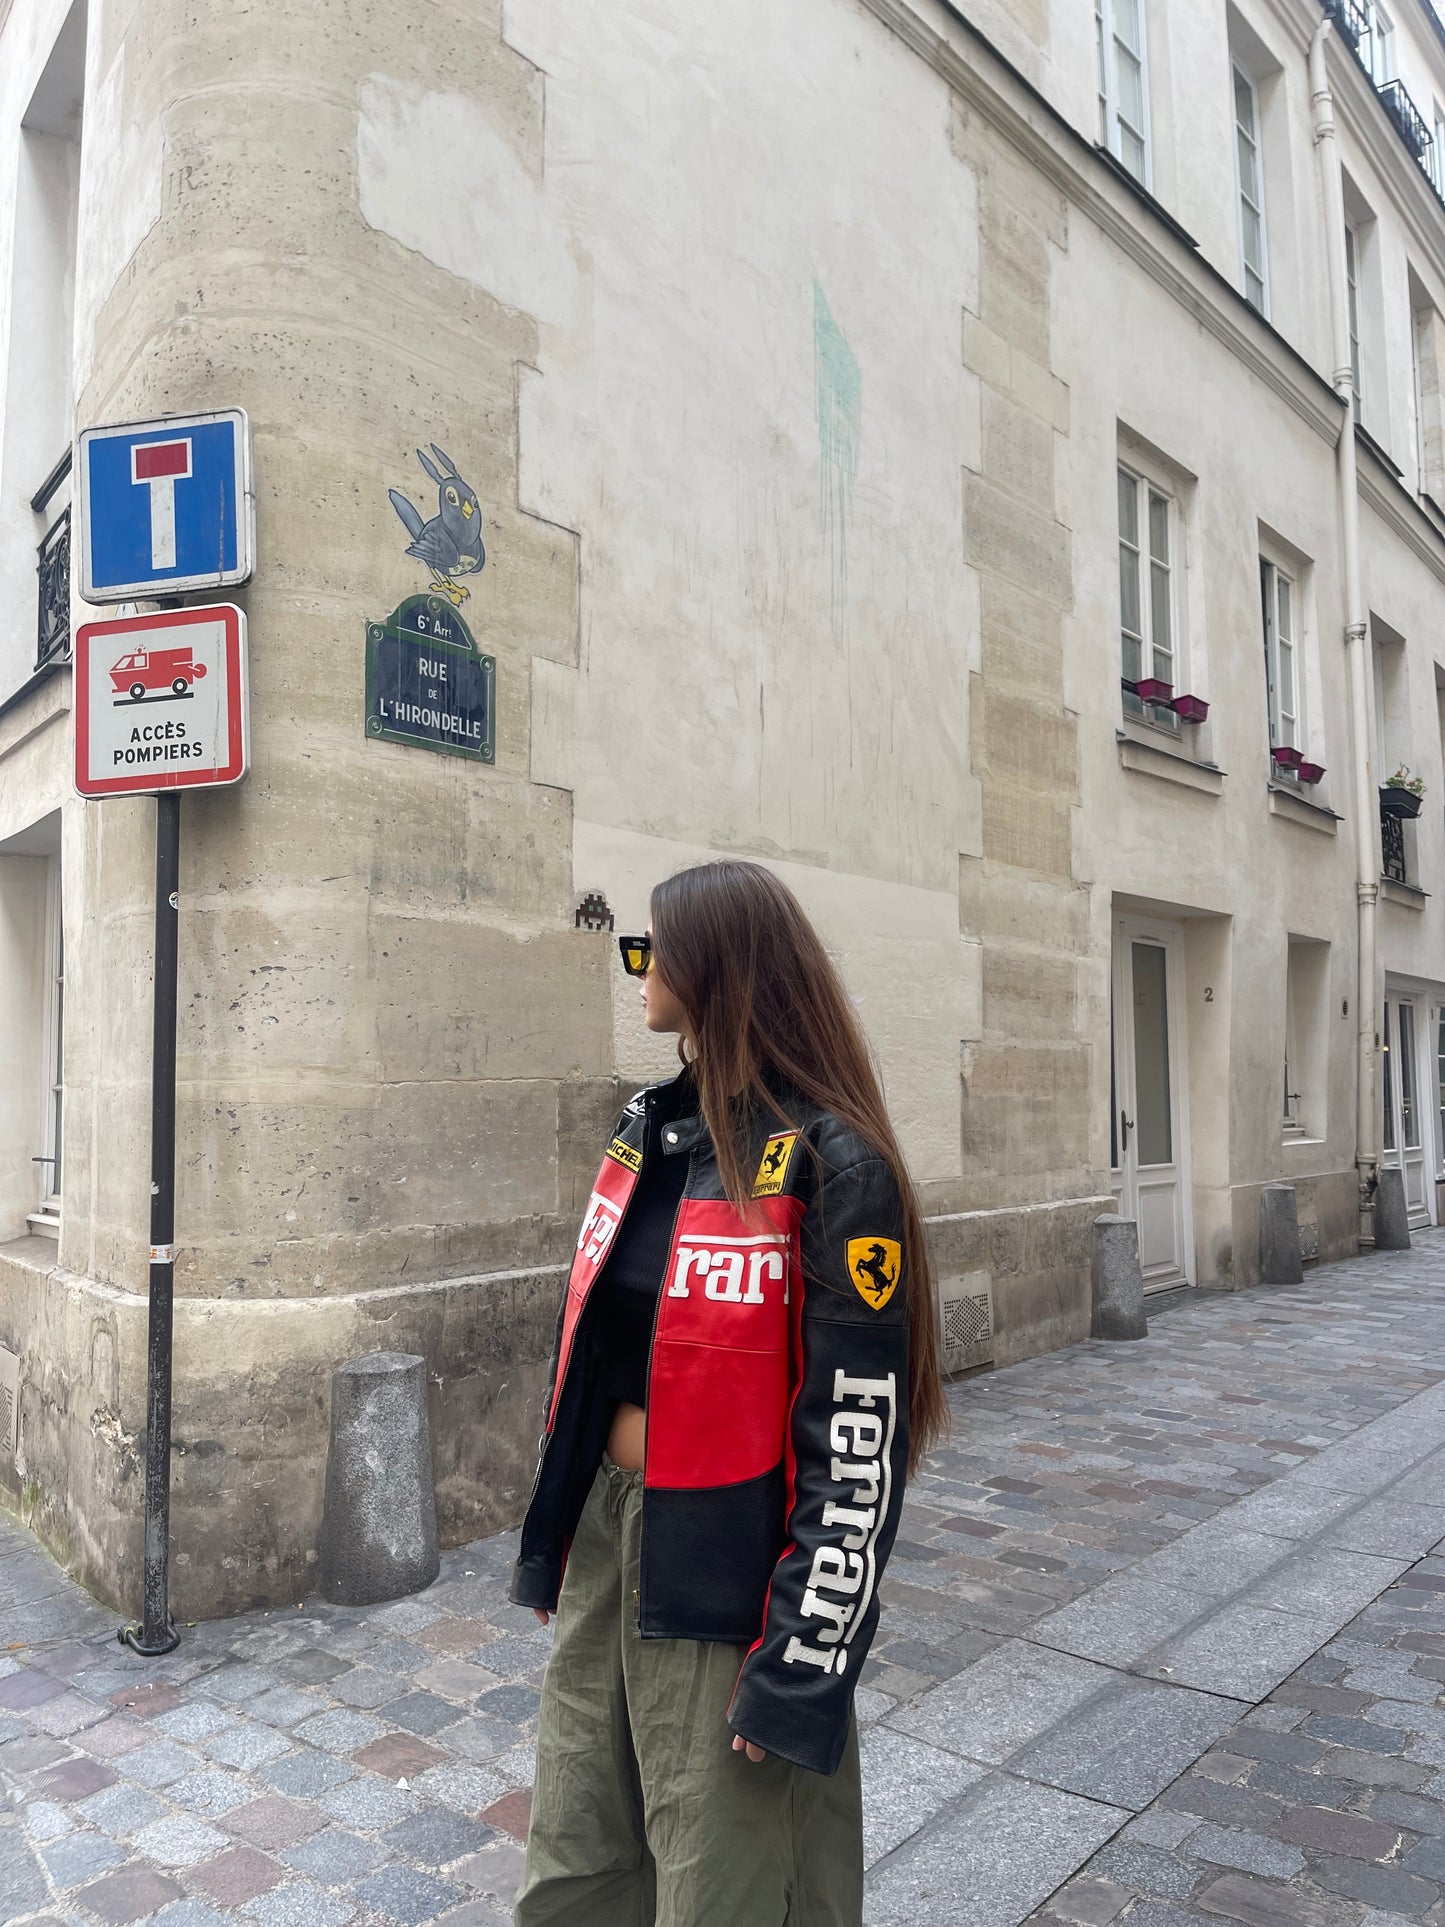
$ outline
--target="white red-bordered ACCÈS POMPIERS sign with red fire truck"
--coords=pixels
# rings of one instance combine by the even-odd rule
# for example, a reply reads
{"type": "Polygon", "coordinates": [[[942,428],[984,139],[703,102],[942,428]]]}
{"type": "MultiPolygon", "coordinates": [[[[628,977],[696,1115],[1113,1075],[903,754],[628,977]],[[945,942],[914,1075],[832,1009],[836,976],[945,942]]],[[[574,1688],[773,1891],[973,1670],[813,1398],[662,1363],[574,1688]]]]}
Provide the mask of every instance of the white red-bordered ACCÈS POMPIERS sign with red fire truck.
{"type": "Polygon", "coordinates": [[[154,796],[239,782],[250,752],[235,603],[75,630],[75,788],[154,796]]]}

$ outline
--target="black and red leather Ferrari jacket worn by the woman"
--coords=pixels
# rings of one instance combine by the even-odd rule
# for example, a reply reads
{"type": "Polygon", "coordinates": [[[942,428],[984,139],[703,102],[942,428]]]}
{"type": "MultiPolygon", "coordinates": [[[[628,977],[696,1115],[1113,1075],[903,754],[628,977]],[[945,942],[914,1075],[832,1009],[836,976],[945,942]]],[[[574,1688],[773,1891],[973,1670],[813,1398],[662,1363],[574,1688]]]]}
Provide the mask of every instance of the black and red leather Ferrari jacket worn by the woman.
{"type": "Polygon", "coordinates": [[[613,1414],[591,1287],[647,1162],[686,1156],[647,1366],[638,1628],[748,1646],[730,1729],[834,1773],[907,1470],[902,1201],[869,1145],[788,1096],[796,1129],[759,1122],[749,1143],[748,1222],[701,1116],[674,1114],[680,1085],[638,1093],[603,1154],[557,1320],[512,1599],[557,1607],[613,1414]]]}

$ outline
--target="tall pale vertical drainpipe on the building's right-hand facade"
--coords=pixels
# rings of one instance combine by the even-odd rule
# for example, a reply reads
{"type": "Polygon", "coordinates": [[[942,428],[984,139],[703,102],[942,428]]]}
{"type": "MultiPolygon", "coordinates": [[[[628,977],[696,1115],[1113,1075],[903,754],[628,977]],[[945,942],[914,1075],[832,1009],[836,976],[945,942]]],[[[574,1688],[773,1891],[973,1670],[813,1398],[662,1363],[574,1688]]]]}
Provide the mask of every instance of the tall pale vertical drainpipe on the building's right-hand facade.
{"type": "Polygon", "coordinates": [[[1374,1193],[1379,1156],[1376,1133],[1376,911],[1379,904],[1379,804],[1370,771],[1370,661],[1364,590],[1360,584],[1360,491],[1354,472],[1354,372],[1351,368],[1349,291],[1345,279],[1345,183],[1335,143],[1335,102],[1326,75],[1324,19],[1310,40],[1310,108],[1314,148],[1324,189],[1326,264],[1329,272],[1331,383],[1345,420],[1339,434],[1339,530],[1345,576],[1345,661],[1351,690],[1351,744],[1354,752],[1354,900],[1358,917],[1356,1100],[1354,1170],[1360,1179],[1360,1243],[1374,1243],[1374,1193]]]}

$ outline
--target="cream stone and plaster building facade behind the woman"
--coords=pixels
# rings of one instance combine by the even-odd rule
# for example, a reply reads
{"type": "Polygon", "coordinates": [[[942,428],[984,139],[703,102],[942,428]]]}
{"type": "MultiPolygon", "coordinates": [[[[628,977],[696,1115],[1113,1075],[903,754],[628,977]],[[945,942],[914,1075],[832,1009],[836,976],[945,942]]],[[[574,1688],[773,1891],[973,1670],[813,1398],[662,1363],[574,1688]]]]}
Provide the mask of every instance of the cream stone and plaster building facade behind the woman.
{"type": "Polygon", "coordinates": [[[183,804],[187,1615],[308,1590],[362,1351],[428,1359],[443,1534],[518,1515],[670,1062],[580,906],[709,854],[838,956],[952,1362],[1085,1335],[1116,1201],[1160,1291],[1256,1278],[1268,1181],[1354,1251],[1376,1152],[1435,1220],[1445,35],[1331,13],[0,0],[0,1491],[87,1584],[139,1571],[154,805],[71,788],[79,428],[254,430],[252,767],[183,804]],[[482,503],[491,765],[364,726],[416,451],[482,503]]]}

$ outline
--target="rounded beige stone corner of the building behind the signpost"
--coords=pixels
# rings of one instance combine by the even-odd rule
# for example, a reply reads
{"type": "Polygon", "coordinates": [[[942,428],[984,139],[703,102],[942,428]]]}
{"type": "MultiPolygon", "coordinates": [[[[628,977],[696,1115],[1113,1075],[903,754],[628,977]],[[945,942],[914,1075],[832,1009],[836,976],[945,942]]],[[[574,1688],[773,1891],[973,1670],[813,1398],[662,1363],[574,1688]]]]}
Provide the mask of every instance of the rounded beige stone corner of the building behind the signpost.
{"type": "MultiPolygon", "coordinates": [[[[374,1343],[428,1355],[443,1532],[514,1515],[547,1266],[620,1091],[605,944],[570,927],[570,798],[530,773],[532,657],[578,649],[576,543],[516,507],[536,320],[476,262],[430,260],[364,189],[378,71],[387,98],[422,102],[445,67],[522,172],[541,158],[539,77],[497,6],[434,8],[426,35],[366,6],[204,31],[179,4],[92,13],[96,166],[112,145],[121,173],[141,154],[164,168],[154,220],[81,237],[79,418],[223,403],[256,437],[254,763],[183,805],[171,1518],[175,1603],[197,1613],[304,1592],[329,1372],[374,1343]],[[430,441],[484,503],[464,613],[497,657],[493,769],[362,734],[364,622],[428,580],[387,488],[418,497],[430,441]]],[[[487,227],[449,127],[426,125],[412,202],[487,227]]],[[[83,225],[104,222],[98,195],[83,225]]],[[[64,765],[62,744],[62,784],[64,765]]],[[[0,1341],[25,1360],[21,1461],[0,1482],[87,1582],[133,1599],[154,809],[67,817],[60,1268],[33,1245],[0,1268],[0,1341]]]]}

